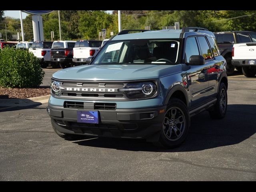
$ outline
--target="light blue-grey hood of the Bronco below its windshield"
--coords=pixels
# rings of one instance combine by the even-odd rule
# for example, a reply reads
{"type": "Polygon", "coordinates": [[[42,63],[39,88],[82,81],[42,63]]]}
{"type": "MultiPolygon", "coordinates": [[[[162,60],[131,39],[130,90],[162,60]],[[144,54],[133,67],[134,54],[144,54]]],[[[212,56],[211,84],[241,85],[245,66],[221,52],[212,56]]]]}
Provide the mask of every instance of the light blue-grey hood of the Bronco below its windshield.
{"type": "Polygon", "coordinates": [[[154,79],[182,71],[181,65],[83,65],[55,72],[52,77],[60,80],[125,81],[154,79]]]}

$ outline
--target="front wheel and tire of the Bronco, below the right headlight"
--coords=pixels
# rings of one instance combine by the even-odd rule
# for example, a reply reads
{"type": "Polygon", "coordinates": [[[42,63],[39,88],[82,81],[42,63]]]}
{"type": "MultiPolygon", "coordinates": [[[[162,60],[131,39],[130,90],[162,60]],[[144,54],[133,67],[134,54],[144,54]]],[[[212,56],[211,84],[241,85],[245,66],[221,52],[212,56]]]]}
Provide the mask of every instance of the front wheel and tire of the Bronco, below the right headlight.
{"type": "Polygon", "coordinates": [[[160,138],[154,144],[163,148],[178,147],[188,136],[189,127],[190,116],[188,108],[181,100],[171,98],[166,108],[160,138]]]}

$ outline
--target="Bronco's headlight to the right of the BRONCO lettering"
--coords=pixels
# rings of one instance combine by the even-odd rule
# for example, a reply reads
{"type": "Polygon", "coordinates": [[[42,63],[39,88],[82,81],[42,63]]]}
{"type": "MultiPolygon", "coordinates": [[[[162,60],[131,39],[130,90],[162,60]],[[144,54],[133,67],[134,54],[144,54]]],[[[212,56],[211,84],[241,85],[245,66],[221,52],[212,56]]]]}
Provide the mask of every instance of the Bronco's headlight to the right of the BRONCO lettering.
{"type": "Polygon", "coordinates": [[[153,82],[129,83],[123,89],[128,98],[148,98],[156,94],[156,84],[153,82]]]}

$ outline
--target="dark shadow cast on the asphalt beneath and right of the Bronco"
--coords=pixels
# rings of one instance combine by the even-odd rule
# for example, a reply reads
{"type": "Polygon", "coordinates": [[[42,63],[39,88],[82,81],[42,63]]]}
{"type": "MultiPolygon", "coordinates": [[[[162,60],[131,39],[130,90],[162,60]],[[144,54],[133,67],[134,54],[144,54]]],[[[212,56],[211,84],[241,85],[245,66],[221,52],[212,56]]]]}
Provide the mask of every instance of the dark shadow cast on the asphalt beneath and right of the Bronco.
{"type": "Polygon", "coordinates": [[[161,149],[145,140],[93,138],[74,143],[117,150],[151,152],[190,152],[238,144],[256,133],[256,106],[230,104],[225,118],[212,120],[208,112],[191,118],[191,127],[186,141],[178,148],[161,149]]]}

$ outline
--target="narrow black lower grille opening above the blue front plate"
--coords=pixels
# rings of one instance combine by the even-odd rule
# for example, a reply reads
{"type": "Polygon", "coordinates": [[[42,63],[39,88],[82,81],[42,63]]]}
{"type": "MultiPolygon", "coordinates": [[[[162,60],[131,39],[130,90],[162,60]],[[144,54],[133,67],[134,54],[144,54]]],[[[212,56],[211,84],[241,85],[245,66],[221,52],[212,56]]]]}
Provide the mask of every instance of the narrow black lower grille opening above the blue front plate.
{"type": "Polygon", "coordinates": [[[86,110],[116,110],[116,103],[93,103],[65,101],[64,108],[86,110]]]}

